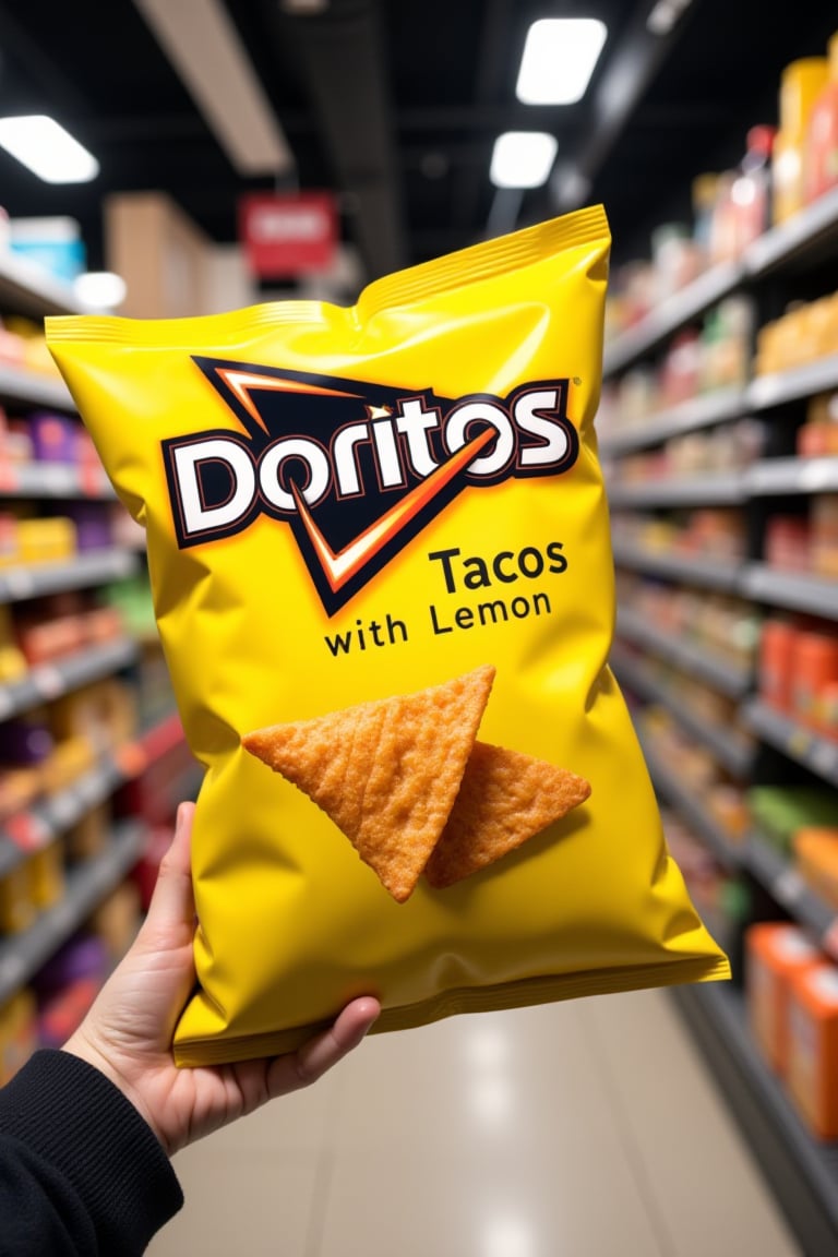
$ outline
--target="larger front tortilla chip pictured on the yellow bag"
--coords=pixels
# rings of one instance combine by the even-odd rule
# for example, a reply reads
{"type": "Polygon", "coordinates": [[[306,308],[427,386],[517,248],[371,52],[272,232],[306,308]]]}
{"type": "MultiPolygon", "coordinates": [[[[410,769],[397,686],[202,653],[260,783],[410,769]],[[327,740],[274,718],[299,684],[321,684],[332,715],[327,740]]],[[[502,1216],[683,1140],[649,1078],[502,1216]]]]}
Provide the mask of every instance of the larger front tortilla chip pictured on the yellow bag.
{"type": "Polygon", "coordinates": [[[334,821],[402,904],[449,818],[494,679],[486,665],[241,742],[334,821]]]}

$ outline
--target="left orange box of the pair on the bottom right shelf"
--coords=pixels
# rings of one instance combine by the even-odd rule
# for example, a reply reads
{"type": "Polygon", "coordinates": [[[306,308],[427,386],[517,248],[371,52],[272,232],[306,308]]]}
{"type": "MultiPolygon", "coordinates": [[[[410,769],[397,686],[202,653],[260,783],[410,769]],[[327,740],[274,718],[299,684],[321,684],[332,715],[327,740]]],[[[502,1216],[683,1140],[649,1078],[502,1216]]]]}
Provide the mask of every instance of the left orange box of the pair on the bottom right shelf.
{"type": "Polygon", "coordinates": [[[792,978],[823,963],[823,953],[786,921],[760,921],[745,933],[745,992],[751,1033],[770,1067],[785,1075],[792,978]]]}

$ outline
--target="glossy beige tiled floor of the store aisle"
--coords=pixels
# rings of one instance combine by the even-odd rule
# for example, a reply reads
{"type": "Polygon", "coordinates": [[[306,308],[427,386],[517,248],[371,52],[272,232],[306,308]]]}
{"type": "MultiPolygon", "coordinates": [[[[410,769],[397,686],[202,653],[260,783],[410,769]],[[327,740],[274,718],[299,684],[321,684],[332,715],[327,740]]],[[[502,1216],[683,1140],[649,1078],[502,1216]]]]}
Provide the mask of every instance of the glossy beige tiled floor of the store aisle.
{"type": "Polygon", "coordinates": [[[368,1038],[181,1153],[150,1257],[797,1257],[661,992],[368,1038]]]}

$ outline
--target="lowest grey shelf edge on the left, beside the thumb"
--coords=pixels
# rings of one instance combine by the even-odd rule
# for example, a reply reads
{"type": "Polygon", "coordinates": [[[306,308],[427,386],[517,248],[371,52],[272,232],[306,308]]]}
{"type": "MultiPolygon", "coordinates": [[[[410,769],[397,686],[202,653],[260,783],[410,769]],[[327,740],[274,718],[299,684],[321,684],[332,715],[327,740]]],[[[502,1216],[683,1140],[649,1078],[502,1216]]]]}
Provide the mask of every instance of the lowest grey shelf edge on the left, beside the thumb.
{"type": "Polygon", "coordinates": [[[23,934],[0,939],[0,1006],[19,991],[88,919],[141,857],[147,830],[138,821],[114,827],[101,856],[67,874],[64,895],[23,934]]]}

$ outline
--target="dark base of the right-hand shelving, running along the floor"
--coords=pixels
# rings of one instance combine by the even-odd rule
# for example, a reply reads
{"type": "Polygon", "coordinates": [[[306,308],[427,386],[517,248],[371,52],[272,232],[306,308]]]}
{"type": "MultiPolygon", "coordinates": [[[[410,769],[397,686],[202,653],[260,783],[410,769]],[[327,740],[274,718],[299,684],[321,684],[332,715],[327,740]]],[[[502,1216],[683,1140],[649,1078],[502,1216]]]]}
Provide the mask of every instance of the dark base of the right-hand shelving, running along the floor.
{"type": "Polygon", "coordinates": [[[814,1140],[758,1055],[730,983],[673,988],[732,1112],[805,1253],[838,1252],[838,1145],[814,1140]]]}

